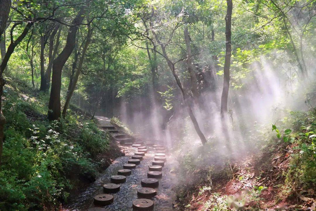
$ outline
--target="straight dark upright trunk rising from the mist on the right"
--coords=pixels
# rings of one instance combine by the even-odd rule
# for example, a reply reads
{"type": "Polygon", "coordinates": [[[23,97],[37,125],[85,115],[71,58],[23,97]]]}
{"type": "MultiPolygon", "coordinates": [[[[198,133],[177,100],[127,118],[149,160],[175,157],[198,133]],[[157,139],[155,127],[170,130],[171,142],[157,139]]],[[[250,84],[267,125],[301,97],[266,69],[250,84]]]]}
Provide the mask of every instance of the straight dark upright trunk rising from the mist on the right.
{"type": "Polygon", "coordinates": [[[226,36],[226,54],[225,54],[225,63],[224,63],[224,81],[223,81],[223,91],[221,99],[221,121],[222,121],[222,130],[224,133],[227,126],[227,101],[228,101],[228,90],[229,90],[229,80],[230,80],[230,59],[232,54],[232,40],[231,40],[231,24],[232,24],[232,10],[233,2],[232,0],[226,0],[227,2],[227,13],[225,17],[225,36],[226,36]]]}

